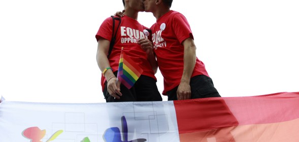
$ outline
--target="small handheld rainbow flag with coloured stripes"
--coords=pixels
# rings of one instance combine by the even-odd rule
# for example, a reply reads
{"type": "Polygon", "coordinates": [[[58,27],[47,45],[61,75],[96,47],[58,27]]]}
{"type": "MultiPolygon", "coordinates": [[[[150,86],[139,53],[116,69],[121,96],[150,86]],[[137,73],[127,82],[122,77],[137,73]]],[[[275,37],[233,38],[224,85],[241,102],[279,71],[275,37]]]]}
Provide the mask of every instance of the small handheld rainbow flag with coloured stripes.
{"type": "Polygon", "coordinates": [[[127,88],[131,88],[142,74],[143,69],[140,68],[123,52],[121,48],[117,79],[127,88]]]}

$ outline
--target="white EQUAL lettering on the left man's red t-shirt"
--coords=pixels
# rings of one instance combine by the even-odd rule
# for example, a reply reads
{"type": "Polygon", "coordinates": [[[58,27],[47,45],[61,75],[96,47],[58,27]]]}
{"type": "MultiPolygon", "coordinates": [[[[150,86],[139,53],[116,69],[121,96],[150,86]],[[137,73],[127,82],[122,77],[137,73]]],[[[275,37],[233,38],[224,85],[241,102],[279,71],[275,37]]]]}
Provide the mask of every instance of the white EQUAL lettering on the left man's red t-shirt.
{"type": "Polygon", "coordinates": [[[120,27],[120,33],[121,33],[121,43],[137,43],[138,39],[146,38],[147,36],[143,33],[143,31],[132,29],[130,27],[121,26],[120,27]]]}

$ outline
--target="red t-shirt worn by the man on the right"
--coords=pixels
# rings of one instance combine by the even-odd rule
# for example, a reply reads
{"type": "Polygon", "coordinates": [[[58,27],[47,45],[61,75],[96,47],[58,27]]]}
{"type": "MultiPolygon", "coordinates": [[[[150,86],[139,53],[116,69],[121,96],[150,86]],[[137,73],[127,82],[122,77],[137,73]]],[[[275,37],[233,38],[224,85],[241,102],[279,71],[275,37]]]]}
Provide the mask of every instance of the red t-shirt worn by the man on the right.
{"type": "MultiPolygon", "coordinates": [[[[193,38],[190,25],[181,13],[170,11],[160,17],[151,27],[154,50],[158,67],[164,77],[164,90],[162,94],[180,84],[184,69],[184,46],[182,42],[193,38]],[[164,24],[163,24],[164,23],[164,24]],[[162,26],[161,26],[162,25],[162,26]],[[164,29],[161,31],[160,27],[164,29]]],[[[205,64],[196,58],[192,76],[208,75],[205,64]]]]}

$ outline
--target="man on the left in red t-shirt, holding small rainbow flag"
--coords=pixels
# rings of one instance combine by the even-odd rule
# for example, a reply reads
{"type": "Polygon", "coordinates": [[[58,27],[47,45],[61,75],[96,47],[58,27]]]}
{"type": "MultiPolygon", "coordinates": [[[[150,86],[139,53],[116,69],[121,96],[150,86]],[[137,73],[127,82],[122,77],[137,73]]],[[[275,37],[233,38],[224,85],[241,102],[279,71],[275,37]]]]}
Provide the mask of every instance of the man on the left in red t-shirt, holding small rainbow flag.
{"type": "MultiPolygon", "coordinates": [[[[123,0],[125,12],[116,31],[116,40],[109,56],[112,38],[112,18],[107,18],[95,35],[98,42],[96,61],[102,75],[102,89],[106,102],[162,101],[156,85],[157,63],[153,54],[153,45],[143,32],[147,29],[138,21],[138,12],[144,11],[143,0],[123,0]],[[121,48],[131,60],[135,61],[143,73],[130,89],[117,84],[116,76],[121,48]]],[[[115,24],[116,25],[116,24],[115,24]]],[[[117,26],[117,25],[116,25],[117,26]]]]}

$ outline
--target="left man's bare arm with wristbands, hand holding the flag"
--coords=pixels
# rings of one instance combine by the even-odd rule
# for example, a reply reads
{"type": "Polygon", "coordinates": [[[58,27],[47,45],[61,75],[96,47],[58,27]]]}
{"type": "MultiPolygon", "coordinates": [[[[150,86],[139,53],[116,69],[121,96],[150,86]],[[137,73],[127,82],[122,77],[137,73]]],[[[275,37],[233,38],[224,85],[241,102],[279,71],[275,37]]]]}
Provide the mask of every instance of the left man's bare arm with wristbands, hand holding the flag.
{"type": "MultiPolygon", "coordinates": [[[[99,69],[102,72],[106,68],[110,67],[110,64],[109,64],[109,61],[107,58],[109,46],[110,46],[110,41],[107,39],[99,38],[99,40],[97,41],[96,62],[97,62],[99,69]]],[[[120,92],[120,81],[118,81],[118,84],[116,84],[116,77],[113,74],[113,71],[111,69],[108,69],[105,72],[104,76],[107,80],[107,89],[108,89],[109,94],[112,97],[120,99],[119,96],[122,95],[120,92]]]]}

